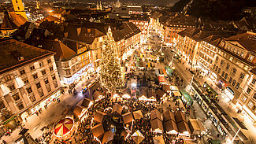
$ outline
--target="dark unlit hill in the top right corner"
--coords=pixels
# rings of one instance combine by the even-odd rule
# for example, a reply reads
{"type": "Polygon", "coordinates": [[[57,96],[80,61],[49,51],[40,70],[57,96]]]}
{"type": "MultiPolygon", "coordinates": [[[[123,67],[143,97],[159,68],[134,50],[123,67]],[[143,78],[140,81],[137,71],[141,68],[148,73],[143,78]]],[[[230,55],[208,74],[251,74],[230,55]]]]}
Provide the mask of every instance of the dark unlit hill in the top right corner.
{"type": "MultiPolygon", "coordinates": [[[[180,0],[172,10],[181,11],[190,0],[180,0]]],[[[210,17],[213,20],[239,20],[244,7],[256,6],[256,0],[193,0],[187,14],[210,17]]]]}

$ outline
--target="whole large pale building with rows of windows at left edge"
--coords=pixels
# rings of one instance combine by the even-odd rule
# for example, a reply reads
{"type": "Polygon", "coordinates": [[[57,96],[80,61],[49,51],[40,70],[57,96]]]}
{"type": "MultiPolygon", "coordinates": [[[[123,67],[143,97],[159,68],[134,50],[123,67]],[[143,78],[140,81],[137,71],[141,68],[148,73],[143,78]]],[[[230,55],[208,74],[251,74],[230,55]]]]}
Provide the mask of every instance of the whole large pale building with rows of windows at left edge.
{"type": "Polygon", "coordinates": [[[1,66],[0,133],[17,127],[18,121],[38,113],[60,93],[60,80],[54,52],[42,50],[16,40],[0,43],[6,54],[1,66]],[[15,53],[14,53],[15,52],[15,53]],[[6,61],[7,60],[7,61],[6,61]]]}

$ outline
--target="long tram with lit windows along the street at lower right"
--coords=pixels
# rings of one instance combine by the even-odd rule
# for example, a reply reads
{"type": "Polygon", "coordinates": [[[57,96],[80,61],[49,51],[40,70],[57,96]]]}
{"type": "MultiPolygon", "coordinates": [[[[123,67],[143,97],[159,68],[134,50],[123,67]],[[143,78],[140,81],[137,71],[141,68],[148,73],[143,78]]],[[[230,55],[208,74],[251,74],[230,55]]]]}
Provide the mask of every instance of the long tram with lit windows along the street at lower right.
{"type": "MultiPolygon", "coordinates": [[[[206,83],[201,86],[194,79],[191,91],[193,92],[198,104],[202,107],[206,115],[210,117],[210,120],[213,122],[214,126],[217,127],[217,130],[220,131],[221,135],[233,138],[237,131],[234,131],[234,129],[238,129],[237,127],[239,127],[234,120],[236,118],[228,116],[228,114],[224,112],[224,109],[217,104],[217,102],[214,100],[217,93],[211,92],[211,94],[209,94],[211,90],[209,87],[210,86],[206,85],[206,83]]],[[[249,141],[247,135],[245,135],[242,131],[239,132],[238,136],[243,143],[247,143],[249,141]]]]}

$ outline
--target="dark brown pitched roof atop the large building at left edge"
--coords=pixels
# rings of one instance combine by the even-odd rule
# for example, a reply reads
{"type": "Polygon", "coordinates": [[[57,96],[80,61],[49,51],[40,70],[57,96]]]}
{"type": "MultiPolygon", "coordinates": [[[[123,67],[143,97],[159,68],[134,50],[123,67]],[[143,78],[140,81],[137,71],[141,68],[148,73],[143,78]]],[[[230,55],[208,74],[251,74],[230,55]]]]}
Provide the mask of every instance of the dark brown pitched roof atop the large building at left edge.
{"type": "Polygon", "coordinates": [[[54,52],[39,49],[14,39],[0,42],[0,73],[8,72],[53,54],[54,52]],[[18,57],[24,57],[24,60],[19,61],[18,57]]]}

